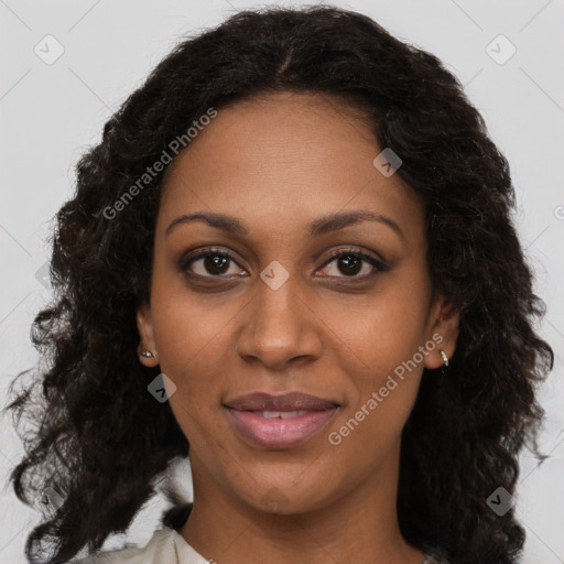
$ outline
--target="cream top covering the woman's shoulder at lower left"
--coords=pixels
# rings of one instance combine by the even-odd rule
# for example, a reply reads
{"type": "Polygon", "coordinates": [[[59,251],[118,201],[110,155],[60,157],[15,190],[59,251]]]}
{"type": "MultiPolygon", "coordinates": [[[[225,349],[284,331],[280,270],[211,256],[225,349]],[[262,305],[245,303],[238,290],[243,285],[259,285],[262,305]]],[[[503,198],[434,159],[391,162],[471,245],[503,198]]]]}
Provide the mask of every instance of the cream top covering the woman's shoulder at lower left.
{"type": "Polygon", "coordinates": [[[174,529],[156,529],[145,546],[100,552],[70,564],[208,564],[174,529]]]}

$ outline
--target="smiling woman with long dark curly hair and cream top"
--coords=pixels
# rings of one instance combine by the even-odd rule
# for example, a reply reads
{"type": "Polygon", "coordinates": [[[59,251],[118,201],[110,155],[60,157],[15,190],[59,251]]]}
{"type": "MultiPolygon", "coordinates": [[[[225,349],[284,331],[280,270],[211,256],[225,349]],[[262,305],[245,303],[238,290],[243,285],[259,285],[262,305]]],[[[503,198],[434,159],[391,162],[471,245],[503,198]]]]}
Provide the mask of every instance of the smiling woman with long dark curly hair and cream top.
{"type": "Polygon", "coordinates": [[[241,12],[77,173],[12,474],[59,499],[29,557],[51,535],[57,563],[517,562],[553,352],[507,161],[437,58],[349,11],[241,12]],[[186,456],[193,503],[95,555],[186,456]]]}

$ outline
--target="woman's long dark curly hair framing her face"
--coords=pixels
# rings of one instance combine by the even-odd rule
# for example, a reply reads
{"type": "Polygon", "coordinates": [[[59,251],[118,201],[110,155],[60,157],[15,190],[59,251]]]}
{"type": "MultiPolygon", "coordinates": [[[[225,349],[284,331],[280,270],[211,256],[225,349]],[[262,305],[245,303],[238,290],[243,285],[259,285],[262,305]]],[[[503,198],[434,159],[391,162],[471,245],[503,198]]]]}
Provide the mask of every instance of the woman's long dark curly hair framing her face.
{"type": "Polygon", "coordinates": [[[159,368],[137,354],[166,166],[113,218],[108,209],[209,108],[278,91],[361,110],[380,147],[401,158],[398,173],[425,205],[434,289],[460,315],[447,375],[425,369],[403,430],[402,534],[453,564],[509,564],[521,552],[513,510],[498,517],[486,500],[499,487],[514,491],[523,446],[538,454],[544,411],[535,389],[554,355],[534,329],[545,306],[513,225],[508,162],[434,55],[366,15],[305,7],[242,11],[180,43],[79,160],[76,194],[56,216],[54,299],[32,328],[44,362],[14,379],[11,394],[20,377],[34,376],[6,408],[17,427],[22,415],[39,423],[19,431],[25,456],[10,476],[18,498],[34,503],[46,488],[63,498],[29,534],[28,558],[47,540],[52,563],[99,550],[188,454],[170,404],[148,393],[159,368]]]}

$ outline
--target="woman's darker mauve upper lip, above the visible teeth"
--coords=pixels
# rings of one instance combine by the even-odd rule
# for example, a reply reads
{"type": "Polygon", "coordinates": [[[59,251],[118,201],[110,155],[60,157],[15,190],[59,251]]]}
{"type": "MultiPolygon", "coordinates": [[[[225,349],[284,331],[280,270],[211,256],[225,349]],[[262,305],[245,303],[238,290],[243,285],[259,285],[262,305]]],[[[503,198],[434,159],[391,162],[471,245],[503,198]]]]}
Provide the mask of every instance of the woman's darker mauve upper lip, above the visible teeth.
{"type": "Polygon", "coordinates": [[[239,411],[323,411],[336,408],[338,404],[302,392],[290,392],[282,395],[254,392],[227,400],[224,405],[239,411]]]}

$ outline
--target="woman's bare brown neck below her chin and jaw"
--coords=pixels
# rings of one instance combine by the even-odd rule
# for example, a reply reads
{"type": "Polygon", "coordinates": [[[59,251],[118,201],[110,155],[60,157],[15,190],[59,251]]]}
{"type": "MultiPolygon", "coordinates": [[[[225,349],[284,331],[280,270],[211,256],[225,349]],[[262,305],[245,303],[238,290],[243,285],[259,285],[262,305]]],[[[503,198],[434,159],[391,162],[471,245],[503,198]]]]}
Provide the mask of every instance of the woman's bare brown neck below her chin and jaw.
{"type": "Polygon", "coordinates": [[[178,531],[218,564],[371,562],[421,564],[402,538],[395,508],[399,448],[366,484],[321,509],[295,514],[257,510],[205,476],[191,456],[194,505],[178,531]],[[205,476],[205,479],[200,477],[205,476]],[[394,476],[394,480],[389,477],[394,476]]]}

